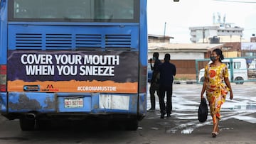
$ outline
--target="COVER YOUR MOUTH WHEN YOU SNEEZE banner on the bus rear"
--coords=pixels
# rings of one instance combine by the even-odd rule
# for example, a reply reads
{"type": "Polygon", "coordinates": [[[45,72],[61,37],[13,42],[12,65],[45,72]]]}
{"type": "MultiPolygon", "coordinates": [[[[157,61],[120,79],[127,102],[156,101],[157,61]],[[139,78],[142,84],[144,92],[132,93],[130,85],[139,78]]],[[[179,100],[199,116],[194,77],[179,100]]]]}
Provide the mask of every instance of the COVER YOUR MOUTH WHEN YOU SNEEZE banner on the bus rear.
{"type": "Polygon", "coordinates": [[[9,92],[137,93],[139,53],[9,50],[9,92]]]}

